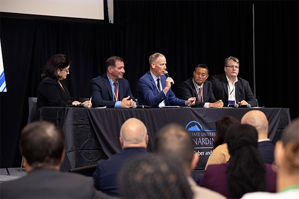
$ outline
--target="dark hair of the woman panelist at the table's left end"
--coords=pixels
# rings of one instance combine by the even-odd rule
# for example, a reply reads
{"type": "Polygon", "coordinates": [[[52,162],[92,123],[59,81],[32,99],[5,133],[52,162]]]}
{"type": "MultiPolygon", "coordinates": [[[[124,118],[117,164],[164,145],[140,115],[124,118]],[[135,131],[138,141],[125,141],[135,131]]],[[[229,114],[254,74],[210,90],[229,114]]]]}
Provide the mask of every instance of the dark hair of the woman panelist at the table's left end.
{"type": "Polygon", "coordinates": [[[51,77],[58,80],[57,70],[64,69],[71,64],[71,60],[67,55],[57,54],[50,57],[45,67],[42,69],[41,78],[51,77]]]}

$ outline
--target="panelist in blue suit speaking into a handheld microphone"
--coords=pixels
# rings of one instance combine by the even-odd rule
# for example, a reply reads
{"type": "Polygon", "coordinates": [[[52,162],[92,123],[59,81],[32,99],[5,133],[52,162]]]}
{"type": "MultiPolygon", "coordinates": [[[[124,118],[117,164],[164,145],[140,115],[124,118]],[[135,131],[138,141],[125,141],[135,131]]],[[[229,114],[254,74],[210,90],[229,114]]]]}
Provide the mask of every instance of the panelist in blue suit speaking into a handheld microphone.
{"type": "Polygon", "coordinates": [[[195,104],[195,98],[179,100],[171,91],[171,78],[166,78],[166,58],[160,53],[149,57],[149,71],[139,79],[137,84],[137,98],[140,105],[158,106],[191,106],[195,104]]]}

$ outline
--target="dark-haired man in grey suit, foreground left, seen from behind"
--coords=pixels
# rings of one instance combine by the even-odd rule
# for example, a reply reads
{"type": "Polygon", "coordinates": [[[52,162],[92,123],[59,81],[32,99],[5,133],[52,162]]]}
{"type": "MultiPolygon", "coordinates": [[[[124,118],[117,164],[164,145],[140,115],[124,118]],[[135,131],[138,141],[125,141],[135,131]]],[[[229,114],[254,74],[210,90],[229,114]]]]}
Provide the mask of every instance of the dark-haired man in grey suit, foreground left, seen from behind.
{"type": "Polygon", "coordinates": [[[25,126],[20,137],[20,153],[28,173],[3,182],[1,199],[92,199],[112,198],[97,191],[92,179],[59,172],[64,159],[64,135],[53,123],[35,121],[25,126]]]}

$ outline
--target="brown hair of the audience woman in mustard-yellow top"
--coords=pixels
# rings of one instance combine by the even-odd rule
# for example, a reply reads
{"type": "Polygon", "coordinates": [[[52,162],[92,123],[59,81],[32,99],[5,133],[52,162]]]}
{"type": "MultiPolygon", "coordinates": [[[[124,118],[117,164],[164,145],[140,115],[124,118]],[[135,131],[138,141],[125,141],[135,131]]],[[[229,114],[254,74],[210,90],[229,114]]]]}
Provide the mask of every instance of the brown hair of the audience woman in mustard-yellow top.
{"type": "Polygon", "coordinates": [[[233,116],[224,115],[220,117],[216,122],[216,135],[214,139],[214,147],[215,149],[217,146],[225,143],[225,135],[227,129],[235,124],[240,124],[240,121],[233,116]]]}

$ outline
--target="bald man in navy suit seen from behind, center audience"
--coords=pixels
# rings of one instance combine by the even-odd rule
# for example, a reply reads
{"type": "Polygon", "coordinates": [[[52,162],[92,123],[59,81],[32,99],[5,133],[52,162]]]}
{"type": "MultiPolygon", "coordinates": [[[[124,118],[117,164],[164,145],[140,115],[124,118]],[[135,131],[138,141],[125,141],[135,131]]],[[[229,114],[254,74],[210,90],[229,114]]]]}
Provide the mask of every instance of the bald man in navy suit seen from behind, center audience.
{"type": "Polygon", "coordinates": [[[116,178],[124,162],[147,153],[147,127],[139,119],[128,119],[121,127],[120,142],[123,151],[112,155],[108,160],[100,160],[93,173],[94,186],[111,196],[119,196],[116,178]]]}

